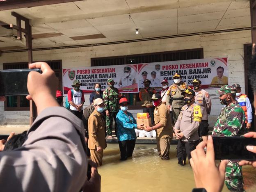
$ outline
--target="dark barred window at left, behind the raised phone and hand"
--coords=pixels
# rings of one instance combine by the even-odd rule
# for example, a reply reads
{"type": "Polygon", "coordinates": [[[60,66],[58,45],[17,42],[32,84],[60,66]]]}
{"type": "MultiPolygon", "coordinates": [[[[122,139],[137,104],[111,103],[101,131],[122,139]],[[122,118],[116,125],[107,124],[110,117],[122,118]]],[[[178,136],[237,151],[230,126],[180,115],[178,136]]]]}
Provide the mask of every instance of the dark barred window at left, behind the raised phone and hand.
{"type": "MultiPolygon", "coordinates": [[[[61,61],[46,61],[55,71],[55,75],[59,79],[59,90],[62,91],[62,62],[61,61]]],[[[27,69],[28,63],[4,63],[3,69],[27,69]]],[[[26,96],[7,96],[5,101],[5,111],[29,111],[30,101],[26,96]]]]}

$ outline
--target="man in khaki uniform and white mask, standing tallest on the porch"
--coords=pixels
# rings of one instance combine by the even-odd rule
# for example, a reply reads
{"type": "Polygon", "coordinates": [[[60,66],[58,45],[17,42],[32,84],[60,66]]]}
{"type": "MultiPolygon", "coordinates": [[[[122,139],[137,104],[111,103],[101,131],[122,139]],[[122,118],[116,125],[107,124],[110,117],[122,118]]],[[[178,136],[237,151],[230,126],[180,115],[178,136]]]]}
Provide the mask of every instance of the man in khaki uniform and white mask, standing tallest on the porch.
{"type": "Polygon", "coordinates": [[[172,107],[174,123],[176,123],[181,108],[185,105],[181,93],[188,89],[188,85],[186,82],[181,81],[181,75],[179,73],[175,73],[173,79],[174,84],[172,84],[167,91],[166,106],[169,110],[170,107],[172,107]]]}

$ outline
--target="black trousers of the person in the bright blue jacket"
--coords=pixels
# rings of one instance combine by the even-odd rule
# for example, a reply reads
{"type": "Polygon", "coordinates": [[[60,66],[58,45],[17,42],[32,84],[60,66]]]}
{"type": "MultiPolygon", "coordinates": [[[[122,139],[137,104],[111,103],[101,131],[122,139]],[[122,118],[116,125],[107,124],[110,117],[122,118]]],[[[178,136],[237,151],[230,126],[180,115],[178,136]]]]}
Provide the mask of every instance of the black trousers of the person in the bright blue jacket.
{"type": "Polygon", "coordinates": [[[128,157],[131,157],[133,155],[133,150],[135,147],[135,139],[119,141],[118,144],[121,152],[120,160],[126,160],[128,157]]]}

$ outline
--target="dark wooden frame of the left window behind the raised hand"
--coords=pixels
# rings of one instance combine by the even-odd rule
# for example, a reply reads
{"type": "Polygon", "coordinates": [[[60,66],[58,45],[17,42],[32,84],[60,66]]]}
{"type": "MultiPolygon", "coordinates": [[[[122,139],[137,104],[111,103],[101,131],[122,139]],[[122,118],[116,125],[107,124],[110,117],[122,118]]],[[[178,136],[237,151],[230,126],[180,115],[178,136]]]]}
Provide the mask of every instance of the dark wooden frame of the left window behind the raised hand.
{"type": "MultiPolygon", "coordinates": [[[[59,62],[59,67],[60,69],[53,69],[54,72],[59,72],[59,90],[62,91],[62,60],[51,60],[51,61],[43,61],[46,63],[51,63],[51,62],[59,62]]],[[[5,70],[5,68],[7,68],[7,66],[9,65],[17,65],[17,64],[25,64],[27,65],[27,69],[28,69],[28,62],[17,62],[17,63],[4,63],[3,64],[3,69],[5,70]]],[[[20,106],[21,99],[20,96],[17,96],[17,106],[20,106]]],[[[4,107],[5,111],[29,111],[30,107],[7,107],[7,98],[5,99],[5,107],[4,107]]]]}

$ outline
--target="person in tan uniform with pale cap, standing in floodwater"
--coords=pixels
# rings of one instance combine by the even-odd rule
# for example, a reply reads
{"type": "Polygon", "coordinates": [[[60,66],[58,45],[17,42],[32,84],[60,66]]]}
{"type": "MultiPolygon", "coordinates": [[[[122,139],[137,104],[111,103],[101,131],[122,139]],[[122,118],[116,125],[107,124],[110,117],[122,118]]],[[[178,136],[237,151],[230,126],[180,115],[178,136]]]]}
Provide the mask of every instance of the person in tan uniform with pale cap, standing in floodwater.
{"type": "Polygon", "coordinates": [[[105,121],[103,120],[104,101],[101,98],[94,100],[95,110],[88,119],[88,148],[91,160],[98,166],[102,165],[103,150],[107,147],[105,139],[105,121]]]}

